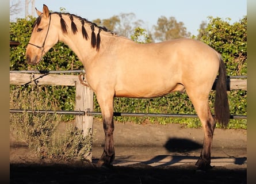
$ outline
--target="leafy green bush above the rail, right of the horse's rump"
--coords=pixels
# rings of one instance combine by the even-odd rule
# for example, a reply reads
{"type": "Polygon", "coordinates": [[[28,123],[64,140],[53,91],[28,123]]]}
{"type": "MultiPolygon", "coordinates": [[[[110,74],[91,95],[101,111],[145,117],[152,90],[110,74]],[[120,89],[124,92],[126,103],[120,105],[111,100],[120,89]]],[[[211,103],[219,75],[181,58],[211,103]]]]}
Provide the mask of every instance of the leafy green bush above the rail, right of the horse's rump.
{"type": "MultiPolygon", "coordinates": [[[[230,18],[227,18],[230,21],[230,18]]],[[[247,74],[247,17],[230,24],[219,17],[209,17],[200,41],[221,53],[228,75],[247,74]]]]}

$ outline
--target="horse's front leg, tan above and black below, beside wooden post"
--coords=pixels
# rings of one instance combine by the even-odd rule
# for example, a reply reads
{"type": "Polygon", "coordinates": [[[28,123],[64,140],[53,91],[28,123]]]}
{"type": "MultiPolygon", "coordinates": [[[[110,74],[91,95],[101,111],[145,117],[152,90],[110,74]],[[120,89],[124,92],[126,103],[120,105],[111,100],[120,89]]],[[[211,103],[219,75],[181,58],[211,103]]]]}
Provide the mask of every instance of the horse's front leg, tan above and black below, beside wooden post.
{"type": "Polygon", "coordinates": [[[106,94],[104,96],[97,95],[97,101],[101,107],[103,128],[105,132],[104,151],[100,160],[98,160],[97,167],[109,167],[114,160],[113,96],[111,95],[106,98],[106,94]]]}

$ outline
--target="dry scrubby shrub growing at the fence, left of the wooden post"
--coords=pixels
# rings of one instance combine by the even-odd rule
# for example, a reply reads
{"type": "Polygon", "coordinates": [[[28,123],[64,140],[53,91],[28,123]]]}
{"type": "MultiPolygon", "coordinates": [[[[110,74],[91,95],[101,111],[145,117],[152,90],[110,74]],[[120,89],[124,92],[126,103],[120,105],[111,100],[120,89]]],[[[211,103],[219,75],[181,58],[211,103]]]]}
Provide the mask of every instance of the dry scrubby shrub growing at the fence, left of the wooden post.
{"type": "MultiPolygon", "coordinates": [[[[29,89],[10,91],[10,109],[56,109],[47,95],[40,95],[40,86],[29,89]]],[[[10,129],[18,140],[35,150],[39,158],[84,159],[92,149],[93,135],[88,130],[86,137],[83,132],[72,124],[68,124],[62,132],[58,131],[61,116],[49,113],[11,113],[10,129]]]]}

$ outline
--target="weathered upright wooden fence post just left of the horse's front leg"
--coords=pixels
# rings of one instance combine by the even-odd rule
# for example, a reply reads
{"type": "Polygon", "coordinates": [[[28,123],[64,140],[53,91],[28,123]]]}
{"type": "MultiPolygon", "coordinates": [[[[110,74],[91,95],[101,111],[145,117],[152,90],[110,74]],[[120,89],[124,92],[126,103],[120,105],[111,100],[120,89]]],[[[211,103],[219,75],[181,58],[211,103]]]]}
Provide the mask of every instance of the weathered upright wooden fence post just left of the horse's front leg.
{"type": "MultiPolygon", "coordinates": [[[[79,81],[75,81],[75,110],[85,112],[87,110],[93,111],[93,90],[83,86],[79,81]]],[[[93,116],[75,116],[75,126],[83,130],[83,137],[85,137],[87,133],[92,135],[93,116]]],[[[86,159],[91,161],[91,153],[86,159]]]]}

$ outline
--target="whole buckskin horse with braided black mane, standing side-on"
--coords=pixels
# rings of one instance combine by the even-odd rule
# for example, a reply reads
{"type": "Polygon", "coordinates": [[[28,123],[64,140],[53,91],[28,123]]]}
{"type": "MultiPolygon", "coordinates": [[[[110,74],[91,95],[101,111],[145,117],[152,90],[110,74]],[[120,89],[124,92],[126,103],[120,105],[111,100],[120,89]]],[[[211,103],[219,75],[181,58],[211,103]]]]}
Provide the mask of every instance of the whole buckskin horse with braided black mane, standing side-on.
{"type": "Polygon", "coordinates": [[[89,87],[101,108],[105,146],[97,166],[114,160],[114,97],[154,98],[186,91],[204,130],[198,169],[211,168],[211,145],[216,121],[226,127],[230,119],[226,67],[207,44],[192,39],[162,43],[135,43],[106,28],[70,13],[43,12],[37,17],[26,48],[29,64],[38,64],[58,41],[67,44],[81,60],[89,87]],[[209,92],[216,76],[215,115],[209,108],[209,92]]]}

